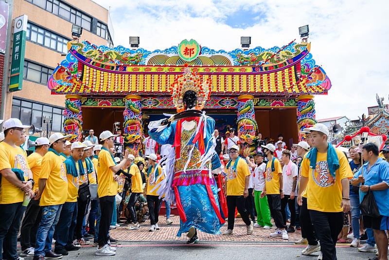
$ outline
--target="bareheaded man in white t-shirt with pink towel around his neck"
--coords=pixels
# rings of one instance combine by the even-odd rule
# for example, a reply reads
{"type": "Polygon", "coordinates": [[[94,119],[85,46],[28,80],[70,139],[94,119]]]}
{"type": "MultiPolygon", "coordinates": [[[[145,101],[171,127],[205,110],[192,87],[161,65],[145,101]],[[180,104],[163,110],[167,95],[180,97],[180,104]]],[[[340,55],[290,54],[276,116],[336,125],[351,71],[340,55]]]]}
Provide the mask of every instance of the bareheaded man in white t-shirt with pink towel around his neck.
{"type": "Polygon", "coordinates": [[[288,233],[295,232],[296,222],[296,207],[295,207],[295,192],[297,187],[297,174],[298,167],[295,163],[290,160],[290,151],[283,150],[282,160],[283,166],[283,194],[284,197],[281,199],[281,213],[283,214],[283,223],[286,225],[286,205],[289,206],[290,211],[290,225],[286,230],[288,233]]]}

